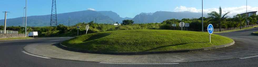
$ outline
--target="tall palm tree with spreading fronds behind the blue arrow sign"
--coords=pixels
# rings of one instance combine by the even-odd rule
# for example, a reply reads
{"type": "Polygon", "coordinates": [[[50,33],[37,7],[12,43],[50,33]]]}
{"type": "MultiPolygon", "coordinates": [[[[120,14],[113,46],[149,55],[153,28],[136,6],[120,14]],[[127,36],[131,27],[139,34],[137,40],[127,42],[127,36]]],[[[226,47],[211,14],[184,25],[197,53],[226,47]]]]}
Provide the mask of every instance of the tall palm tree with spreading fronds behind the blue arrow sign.
{"type": "Polygon", "coordinates": [[[212,11],[211,13],[208,13],[208,18],[210,18],[210,21],[216,21],[217,23],[219,23],[220,31],[221,31],[221,21],[228,18],[229,16],[226,16],[226,15],[229,14],[230,12],[227,12],[224,15],[222,15],[221,7],[219,7],[219,12],[220,13],[212,11]]]}

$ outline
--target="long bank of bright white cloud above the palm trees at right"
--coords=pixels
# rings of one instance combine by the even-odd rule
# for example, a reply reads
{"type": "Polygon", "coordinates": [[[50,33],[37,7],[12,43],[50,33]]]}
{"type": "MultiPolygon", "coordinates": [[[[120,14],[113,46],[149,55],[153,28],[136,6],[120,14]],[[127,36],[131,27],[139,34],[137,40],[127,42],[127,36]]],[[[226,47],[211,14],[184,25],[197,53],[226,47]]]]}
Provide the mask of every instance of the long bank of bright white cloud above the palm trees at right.
{"type": "MultiPolygon", "coordinates": [[[[252,12],[252,11],[257,11],[258,7],[251,7],[251,6],[247,6],[247,12],[252,12]]],[[[174,9],[175,12],[184,12],[184,11],[188,11],[188,12],[196,12],[196,13],[201,13],[202,9],[196,9],[194,7],[185,7],[185,6],[180,6],[180,7],[176,7],[174,9]]],[[[219,7],[218,8],[209,8],[209,9],[203,9],[204,13],[210,13],[212,11],[216,11],[219,12],[219,7]]],[[[222,7],[222,13],[226,13],[230,11],[229,16],[234,16],[236,14],[241,14],[241,13],[246,13],[246,6],[240,6],[240,7],[226,7],[223,8],[222,7]]]]}

